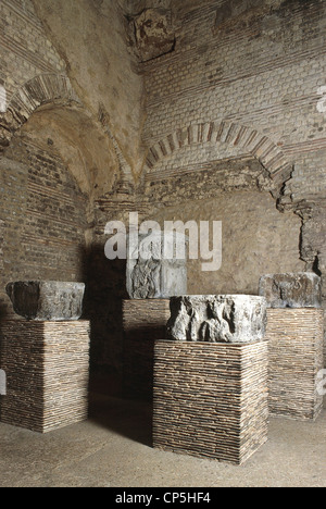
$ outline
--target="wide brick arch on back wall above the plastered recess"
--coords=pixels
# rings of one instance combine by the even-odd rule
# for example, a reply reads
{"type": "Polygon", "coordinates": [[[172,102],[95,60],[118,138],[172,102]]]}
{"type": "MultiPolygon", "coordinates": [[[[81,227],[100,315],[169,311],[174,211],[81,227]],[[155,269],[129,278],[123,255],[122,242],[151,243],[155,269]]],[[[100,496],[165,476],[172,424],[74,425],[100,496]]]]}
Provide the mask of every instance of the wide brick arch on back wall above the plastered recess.
{"type": "Polygon", "coordinates": [[[185,146],[220,142],[243,149],[243,156],[251,154],[258,159],[276,186],[291,176],[293,165],[274,141],[256,129],[230,121],[191,124],[162,138],[149,149],[146,161],[148,176],[162,159],[185,146]]]}

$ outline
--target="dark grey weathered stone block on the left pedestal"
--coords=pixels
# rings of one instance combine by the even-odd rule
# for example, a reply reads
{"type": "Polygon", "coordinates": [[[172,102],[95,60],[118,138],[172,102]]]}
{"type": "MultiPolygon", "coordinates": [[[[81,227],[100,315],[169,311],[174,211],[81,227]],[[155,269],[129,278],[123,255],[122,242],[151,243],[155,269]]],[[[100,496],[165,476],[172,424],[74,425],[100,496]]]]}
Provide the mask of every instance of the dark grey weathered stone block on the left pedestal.
{"type": "Polygon", "coordinates": [[[5,289],[15,313],[27,320],[71,321],[83,312],[84,283],[15,282],[5,289]]]}

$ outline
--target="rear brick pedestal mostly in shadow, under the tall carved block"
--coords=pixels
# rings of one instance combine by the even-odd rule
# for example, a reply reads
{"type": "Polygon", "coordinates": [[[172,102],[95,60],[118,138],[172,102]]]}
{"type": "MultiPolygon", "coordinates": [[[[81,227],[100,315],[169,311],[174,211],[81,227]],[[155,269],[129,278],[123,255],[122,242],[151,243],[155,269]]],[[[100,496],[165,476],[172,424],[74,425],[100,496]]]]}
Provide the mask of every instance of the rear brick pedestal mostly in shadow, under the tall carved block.
{"type": "Polygon", "coordinates": [[[123,301],[124,395],[151,400],[154,342],[166,337],[170,299],[123,301]]]}

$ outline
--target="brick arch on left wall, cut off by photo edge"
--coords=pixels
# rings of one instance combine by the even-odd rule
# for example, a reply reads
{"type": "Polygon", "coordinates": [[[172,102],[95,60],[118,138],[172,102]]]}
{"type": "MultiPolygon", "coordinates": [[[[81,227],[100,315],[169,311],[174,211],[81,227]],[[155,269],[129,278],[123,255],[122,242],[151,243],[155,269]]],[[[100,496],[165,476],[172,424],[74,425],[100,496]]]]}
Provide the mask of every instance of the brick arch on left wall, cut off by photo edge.
{"type": "Polygon", "coordinates": [[[33,77],[14,92],[7,112],[0,115],[0,146],[8,145],[14,132],[22,127],[39,107],[51,102],[73,101],[80,103],[67,76],[47,73],[33,77]]]}

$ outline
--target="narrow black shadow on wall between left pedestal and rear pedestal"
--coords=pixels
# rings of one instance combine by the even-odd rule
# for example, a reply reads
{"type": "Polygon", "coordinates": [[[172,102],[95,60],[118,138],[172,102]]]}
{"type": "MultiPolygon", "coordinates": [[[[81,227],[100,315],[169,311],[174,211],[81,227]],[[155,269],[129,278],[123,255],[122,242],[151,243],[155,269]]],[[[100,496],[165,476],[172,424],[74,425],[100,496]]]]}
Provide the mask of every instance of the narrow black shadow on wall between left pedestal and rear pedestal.
{"type": "Polygon", "coordinates": [[[108,260],[102,244],[84,250],[85,320],[90,321],[90,390],[122,396],[125,260],[108,260]]]}

